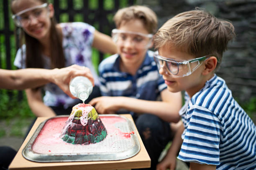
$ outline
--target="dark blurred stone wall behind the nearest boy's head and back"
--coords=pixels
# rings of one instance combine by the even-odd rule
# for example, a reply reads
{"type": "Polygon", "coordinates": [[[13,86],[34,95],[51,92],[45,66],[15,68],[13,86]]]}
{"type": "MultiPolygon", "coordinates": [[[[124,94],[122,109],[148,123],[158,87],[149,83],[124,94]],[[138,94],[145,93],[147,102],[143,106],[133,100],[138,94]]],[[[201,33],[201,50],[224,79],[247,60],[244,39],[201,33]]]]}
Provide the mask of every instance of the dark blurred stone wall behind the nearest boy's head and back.
{"type": "Polygon", "coordinates": [[[256,97],[256,0],[138,0],[156,12],[159,27],[169,18],[202,7],[218,18],[230,20],[236,38],[224,52],[217,75],[241,102],[256,97]]]}

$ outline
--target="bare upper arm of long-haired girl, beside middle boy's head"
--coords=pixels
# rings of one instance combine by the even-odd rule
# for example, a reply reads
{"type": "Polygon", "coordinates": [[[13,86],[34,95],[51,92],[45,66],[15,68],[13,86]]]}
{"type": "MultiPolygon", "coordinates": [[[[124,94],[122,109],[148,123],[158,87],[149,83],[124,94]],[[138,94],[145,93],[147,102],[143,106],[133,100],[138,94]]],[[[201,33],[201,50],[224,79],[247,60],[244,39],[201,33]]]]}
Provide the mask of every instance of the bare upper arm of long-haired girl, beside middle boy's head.
{"type": "Polygon", "coordinates": [[[112,38],[97,30],[95,30],[94,32],[92,47],[95,47],[97,50],[103,53],[110,53],[110,54],[117,53],[117,47],[113,42],[112,38]]]}

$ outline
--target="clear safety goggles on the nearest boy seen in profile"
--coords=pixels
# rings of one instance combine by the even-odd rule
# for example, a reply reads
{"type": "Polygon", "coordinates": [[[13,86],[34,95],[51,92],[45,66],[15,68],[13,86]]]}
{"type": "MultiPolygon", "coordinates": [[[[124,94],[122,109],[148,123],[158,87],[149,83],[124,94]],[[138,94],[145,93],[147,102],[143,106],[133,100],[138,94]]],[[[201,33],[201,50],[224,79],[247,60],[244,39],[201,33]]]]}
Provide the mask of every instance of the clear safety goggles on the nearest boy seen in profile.
{"type": "Polygon", "coordinates": [[[174,60],[158,55],[158,51],[154,53],[154,60],[158,69],[164,69],[164,71],[172,75],[172,77],[185,77],[191,75],[202,63],[207,60],[210,55],[205,55],[199,58],[193,58],[191,60],[174,60]],[[171,73],[171,74],[170,74],[171,73]]]}

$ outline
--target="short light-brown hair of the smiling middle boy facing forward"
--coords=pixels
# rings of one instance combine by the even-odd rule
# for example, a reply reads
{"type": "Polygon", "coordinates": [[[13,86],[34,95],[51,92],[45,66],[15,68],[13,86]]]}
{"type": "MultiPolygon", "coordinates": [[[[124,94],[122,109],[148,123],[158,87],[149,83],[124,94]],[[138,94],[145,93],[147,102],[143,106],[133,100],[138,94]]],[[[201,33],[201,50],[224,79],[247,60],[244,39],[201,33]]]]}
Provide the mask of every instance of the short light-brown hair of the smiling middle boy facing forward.
{"type": "Polygon", "coordinates": [[[130,21],[138,19],[141,20],[144,24],[144,27],[148,33],[154,34],[157,30],[157,17],[156,13],[153,10],[146,6],[133,5],[131,7],[125,7],[115,14],[114,21],[117,28],[120,27],[120,24],[124,21],[130,21]]]}

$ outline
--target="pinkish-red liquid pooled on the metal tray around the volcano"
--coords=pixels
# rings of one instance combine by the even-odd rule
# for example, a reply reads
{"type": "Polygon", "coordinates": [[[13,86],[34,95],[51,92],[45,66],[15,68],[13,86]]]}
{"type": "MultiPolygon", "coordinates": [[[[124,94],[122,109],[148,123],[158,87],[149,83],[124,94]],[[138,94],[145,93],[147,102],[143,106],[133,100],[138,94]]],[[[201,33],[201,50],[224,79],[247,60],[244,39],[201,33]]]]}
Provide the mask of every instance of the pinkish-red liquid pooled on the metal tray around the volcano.
{"type": "MultiPolygon", "coordinates": [[[[86,105],[83,104],[82,105],[86,105]]],[[[84,149],[83,147],[86,147],[86,145],[74,145],[70,143],[66,143],[60,138],[60,133],[62,128],[65,125],[66,120],[68,117],[56,117],[53,119],[48,120],[44,127],[41,129],[40,133],[38,134],[36,140],[34,141],[32,145],[32,150],[36,153],[43,153],[43,154],[51,154],[54,153],[67,153],[67,150],[77,150],[84,149]]],[[[126,122],[126,120],[122,117],[116,117],[116,116],[100,116],[100,119],[102,123],[104,124],[108,135],[106,138],[119,138],[119,140],[122,139],[128,139],[131,138],[131,134],[134,134],[133,131],[129,133],[122,132],[119,128],[115,127],[115,123],[126,122]]],[[[90,144],[90,145],[100,145],[100,143],[104,142],[102,140],[101,142],[97,144],[90,144]]],[[[111,146],[113,147],[115,145],[114,141],[111,146]]],[[[87,147],[90,147],[90,145],[87,145],[87,147]]],[[[108,147],[107,145],[105,147],[108,147]]],[[[103,152],[103,151],[102,151],[103,152]]]]}

